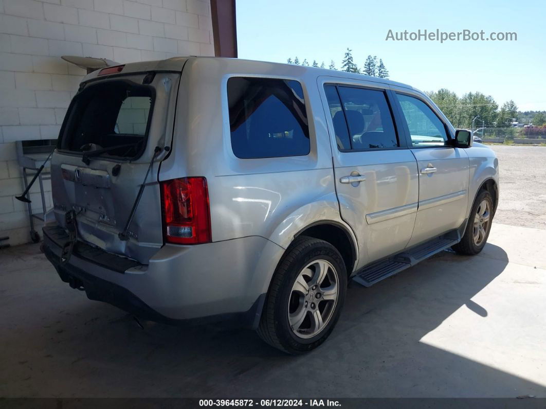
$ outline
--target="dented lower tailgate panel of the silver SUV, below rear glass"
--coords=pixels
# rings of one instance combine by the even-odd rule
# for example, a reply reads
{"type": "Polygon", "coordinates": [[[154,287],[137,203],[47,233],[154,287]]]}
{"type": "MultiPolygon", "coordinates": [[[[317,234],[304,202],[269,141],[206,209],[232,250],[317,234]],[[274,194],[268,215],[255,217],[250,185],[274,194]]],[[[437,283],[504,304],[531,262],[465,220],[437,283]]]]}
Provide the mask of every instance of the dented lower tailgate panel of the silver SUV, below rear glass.
{"type": "MultiPolygon", "coordinates": [[[[110,175],[110,186],[104,188],[84,186],[79,182],[63,179],[63,168],[66,170],[78,167],[81,158],[64,156],[62,162],[63,164],[52,166],[51,169],[57,223],[64,227],[64,215],[68,210],[75,209],[78,213],[78,236],[81,240],[105,251],[147,263],[163,245],[161,202],[156,181],[148,183],[144,189],[129,227],[132,232],[130,239],[122,241],[118,238],[118,233],[129,217],[136,191],[148,164],[122,164],[120,176],[110,175]]],[[[94,165],[92,171],[108,174],[114,163],[97,160],[92,162],[92,165],[94,165]]]]}

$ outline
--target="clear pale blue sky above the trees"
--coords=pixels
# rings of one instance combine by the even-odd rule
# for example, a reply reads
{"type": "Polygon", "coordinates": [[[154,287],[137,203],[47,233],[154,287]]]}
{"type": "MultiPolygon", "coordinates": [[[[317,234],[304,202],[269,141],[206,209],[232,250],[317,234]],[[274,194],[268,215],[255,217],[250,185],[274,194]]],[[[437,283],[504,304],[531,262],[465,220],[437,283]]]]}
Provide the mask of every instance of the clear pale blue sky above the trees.
{"type": "Polygon", "coordinates": [[[359,68],[377,55],[391,80],[422,91],[479,91],[546,110],[545,0],[236,0],[236,13],[239,58],[340,68],[349,48],[359,68]],[[517,41],[385,40],[389,29],[515,32],[517,41]]]}

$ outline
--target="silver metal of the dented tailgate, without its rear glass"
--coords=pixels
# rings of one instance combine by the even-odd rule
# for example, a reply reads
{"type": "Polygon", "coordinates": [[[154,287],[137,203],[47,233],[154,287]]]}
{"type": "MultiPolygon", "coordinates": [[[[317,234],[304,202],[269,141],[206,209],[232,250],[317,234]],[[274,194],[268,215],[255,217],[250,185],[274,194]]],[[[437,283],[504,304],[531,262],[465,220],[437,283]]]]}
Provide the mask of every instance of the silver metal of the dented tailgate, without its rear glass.
{"type": "MultiPolygon", "coordinates": [[[[55,218],[60,226],[65,226],[66,212],[75,209],[79,212],[77,222],[81,240],[144,264],[163,245],[161,201],[154,175],[166,152],[156,159],[146,180],[146,188],[129,226],[129,240],[121,241],[117,234],[129,217],[155,146],[163,146],[165,135],[172,132],[176,102],[176,92],[173,90],[179,77],[175,73],[158,73],[152,82],[156,98],[147,145],[140,158],[128,162],[120,158],[93,157],[87,166],[82,163],[78,153],[54,153],[51,159],[51,188],[55,218]],[[120,164],[121,170],[114,176],[112,168],[116,164],[120,164]]],[[[142,82],[143,78],[144,74],[127,76],[127,79],[137,83],[142,82]]]]}

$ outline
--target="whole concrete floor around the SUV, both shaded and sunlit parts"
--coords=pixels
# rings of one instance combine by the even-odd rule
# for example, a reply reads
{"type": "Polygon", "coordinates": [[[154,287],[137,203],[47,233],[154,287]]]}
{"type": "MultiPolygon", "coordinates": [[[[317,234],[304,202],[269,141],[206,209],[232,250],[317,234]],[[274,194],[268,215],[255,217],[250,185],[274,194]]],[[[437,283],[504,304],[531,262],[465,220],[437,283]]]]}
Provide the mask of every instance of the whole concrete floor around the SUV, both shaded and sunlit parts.
{"type": "Polygon", "coordinates": [[[351,285],[330,339],[290,357],[252,331],[144,323],[61,282],[37,245],[0,252],[0,396],[546,397],[546,230],[494,224],[351,285]]]}

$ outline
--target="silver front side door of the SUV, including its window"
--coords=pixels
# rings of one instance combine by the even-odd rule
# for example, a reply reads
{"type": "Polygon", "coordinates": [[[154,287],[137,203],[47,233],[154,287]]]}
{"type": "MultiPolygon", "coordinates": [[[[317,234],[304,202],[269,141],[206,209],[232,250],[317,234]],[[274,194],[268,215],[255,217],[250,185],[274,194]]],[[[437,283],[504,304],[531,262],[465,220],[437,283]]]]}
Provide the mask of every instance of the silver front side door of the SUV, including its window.
{"type": "Polygon", "coordinates": [[[418,93],[396,92],[419,169],[419,209],[408,246],[461,226],[468,202],[469,161],[464,149],[450,146],[447,122],[418,93]]]}

